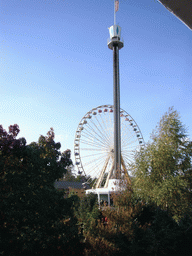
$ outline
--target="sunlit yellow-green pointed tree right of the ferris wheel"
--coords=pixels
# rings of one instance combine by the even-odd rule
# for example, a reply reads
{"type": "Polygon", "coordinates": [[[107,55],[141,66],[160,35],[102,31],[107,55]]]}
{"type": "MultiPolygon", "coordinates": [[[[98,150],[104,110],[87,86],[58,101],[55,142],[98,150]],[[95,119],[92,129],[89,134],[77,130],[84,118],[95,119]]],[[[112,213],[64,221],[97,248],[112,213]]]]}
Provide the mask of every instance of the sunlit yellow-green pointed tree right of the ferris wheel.
{"type": "Polygon", "coordinates": [[[151,139],[136,155],[134,191],[178,219],[191,209],[192,142],[177,111],[169,108],[151,139]]]}

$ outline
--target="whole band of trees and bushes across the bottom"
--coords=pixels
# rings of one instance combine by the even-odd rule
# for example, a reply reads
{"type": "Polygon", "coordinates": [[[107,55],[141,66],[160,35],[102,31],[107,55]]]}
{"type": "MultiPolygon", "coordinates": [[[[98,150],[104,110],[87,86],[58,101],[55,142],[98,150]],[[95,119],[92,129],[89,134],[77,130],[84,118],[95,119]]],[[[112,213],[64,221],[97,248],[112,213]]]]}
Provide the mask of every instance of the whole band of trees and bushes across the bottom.
{"type": "Polygon", "coordinates": [[[113,207],[55,189],[73,175],[52,128],[29,145],[18,134],[18,125],[0,126],[1,255],[192,254],[192,142],[173,108],[135,155],[132,184],[113,207]]]}

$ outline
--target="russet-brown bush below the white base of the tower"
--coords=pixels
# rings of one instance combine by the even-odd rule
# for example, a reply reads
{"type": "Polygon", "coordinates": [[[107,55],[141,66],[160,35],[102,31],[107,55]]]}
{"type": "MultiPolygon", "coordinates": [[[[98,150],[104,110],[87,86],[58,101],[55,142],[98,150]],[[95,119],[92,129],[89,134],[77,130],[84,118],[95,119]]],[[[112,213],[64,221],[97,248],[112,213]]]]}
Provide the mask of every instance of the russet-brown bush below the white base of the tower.
{"type": "Polygon", "coordinates": [[[114,207],[101,208],[100,215],[86,230],[85,255],[126,255],[130,252],[133,235],[132,218],[136,208],[130,189],[113,195],[114,207]],[[107,218],[107,219],[106,219],[107,218]]]}

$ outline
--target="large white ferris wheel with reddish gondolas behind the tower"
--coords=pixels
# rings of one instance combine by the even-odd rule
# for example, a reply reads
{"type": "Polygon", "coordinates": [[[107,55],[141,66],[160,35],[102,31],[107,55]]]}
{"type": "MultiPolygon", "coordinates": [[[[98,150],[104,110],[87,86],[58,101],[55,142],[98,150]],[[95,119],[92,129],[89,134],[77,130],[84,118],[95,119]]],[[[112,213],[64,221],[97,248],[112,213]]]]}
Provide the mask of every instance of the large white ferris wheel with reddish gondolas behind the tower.
{"type": "MultiPolygon", "coordinates": [[[[144,146],[142,133],[135,120],[120,109],[121,165],[130,174],[135,152],[144,146]]],[[[95,179],[95,186],[107,186],[103,180],[114,167],[114,115],[112,105],[93,108],[81,119],[74,141],[78,174],[95,179]],[[97,181],[100,179],[100,183],[97,181]]],[[[107,176],[108,175],[108,176],[107,176]]]]}

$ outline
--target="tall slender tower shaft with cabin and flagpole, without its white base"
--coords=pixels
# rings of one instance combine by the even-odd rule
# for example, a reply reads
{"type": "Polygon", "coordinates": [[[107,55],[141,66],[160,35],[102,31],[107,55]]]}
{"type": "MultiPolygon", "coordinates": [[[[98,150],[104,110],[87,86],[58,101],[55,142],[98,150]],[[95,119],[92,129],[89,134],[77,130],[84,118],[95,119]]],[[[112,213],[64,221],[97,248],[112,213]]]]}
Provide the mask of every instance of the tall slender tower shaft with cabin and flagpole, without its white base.
{"type": "Polygon", "coordinates": [[[114,106],[114,170],[112,178],[118,179],[121,171],[121,127],[120,127],[120,82],[119,82],[119,50],[123,48],[121,27],[116,25],[116,12],[119,0],[114,1],[114,25],[109,28],[108,47],[113,50],[113,106],[114,106]]]}

